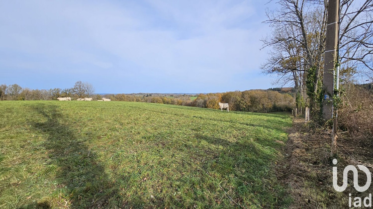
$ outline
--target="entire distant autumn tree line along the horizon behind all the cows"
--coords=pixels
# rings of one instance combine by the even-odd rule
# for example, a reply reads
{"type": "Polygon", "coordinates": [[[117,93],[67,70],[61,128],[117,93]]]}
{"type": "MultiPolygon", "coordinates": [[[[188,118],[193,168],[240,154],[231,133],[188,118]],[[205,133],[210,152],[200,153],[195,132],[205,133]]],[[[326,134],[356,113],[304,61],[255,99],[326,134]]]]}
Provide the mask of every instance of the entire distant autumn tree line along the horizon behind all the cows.
{"type": "Polygon", "coordinates": [[[219,102],[228,103],[230,110],[272,112],[291,111],[295,107],[293,88],[274,88],[269,90],[248,90],[225,93],[209,93],[199,95],[173,95],[169,94],[107,94],[96,95],[92,84],[78,81],[74,87],[67,89],[54,88],[50,90],[31,90],[22,88],[17,84],[0,85],[0,100],[57,100],[59,97],[93,98],[101,100],[102,97],[111,101],[144,102],[157,104],[174,104],[218,109],[219,102]],[[191,100],[191,96],[196,99],[191,100]]]}

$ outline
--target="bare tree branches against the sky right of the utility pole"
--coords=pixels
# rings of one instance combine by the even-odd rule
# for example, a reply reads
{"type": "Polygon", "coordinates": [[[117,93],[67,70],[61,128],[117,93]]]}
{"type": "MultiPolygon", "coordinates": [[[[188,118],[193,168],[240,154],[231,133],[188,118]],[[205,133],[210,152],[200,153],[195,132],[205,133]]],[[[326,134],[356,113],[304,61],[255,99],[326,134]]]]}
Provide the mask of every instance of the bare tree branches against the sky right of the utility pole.
{"type": "Polygon", "coordinates": [[[349,74],[372,76],[373,71],[373,0],[357,3],[341,1],[339,56],[349,74]]]}

